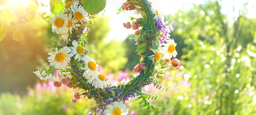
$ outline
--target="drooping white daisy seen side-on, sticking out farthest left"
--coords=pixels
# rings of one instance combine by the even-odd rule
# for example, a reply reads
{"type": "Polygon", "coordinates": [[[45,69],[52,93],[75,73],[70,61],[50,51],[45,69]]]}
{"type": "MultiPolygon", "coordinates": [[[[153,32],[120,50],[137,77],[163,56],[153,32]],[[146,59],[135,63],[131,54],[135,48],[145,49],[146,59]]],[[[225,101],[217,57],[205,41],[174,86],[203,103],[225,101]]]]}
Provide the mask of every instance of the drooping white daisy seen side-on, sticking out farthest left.
{"type": "Polygon", "coordinates": [[[40,78],[40,80],[44,82],[47,82],[48,80],[51,80],[52,82],[57,82],[55,76],[52,76],[52,74],[47,75],[46,71],[42,72],[42,68],[40,69],[40,71],[39,71],[39,68],[38,68],[38,71],[35,71],[35,72],[33,71],[36,74],[36,76],[40,78]]]}

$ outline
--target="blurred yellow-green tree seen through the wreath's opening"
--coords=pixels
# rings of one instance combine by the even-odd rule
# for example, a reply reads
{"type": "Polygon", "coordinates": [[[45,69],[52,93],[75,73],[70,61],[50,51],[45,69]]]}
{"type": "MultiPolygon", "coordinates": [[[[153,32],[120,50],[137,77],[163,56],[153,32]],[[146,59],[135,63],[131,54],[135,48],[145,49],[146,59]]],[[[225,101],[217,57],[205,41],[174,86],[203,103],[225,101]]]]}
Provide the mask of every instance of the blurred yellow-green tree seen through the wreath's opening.
{"type": "Polygon", "coordinates": [[[103,42],[111,29],[109,19],[106,16],[95,18],[95,27],[89,27],[91,33],[82,38],[87,41],[86,49],[90,52],[88,55],[94,57],[96,63],[103,66],[106,73],[116,73],[125,68],[127,63],[126,48],[123,42],[115,40],[111,40],[109,43],[103,42]]]}

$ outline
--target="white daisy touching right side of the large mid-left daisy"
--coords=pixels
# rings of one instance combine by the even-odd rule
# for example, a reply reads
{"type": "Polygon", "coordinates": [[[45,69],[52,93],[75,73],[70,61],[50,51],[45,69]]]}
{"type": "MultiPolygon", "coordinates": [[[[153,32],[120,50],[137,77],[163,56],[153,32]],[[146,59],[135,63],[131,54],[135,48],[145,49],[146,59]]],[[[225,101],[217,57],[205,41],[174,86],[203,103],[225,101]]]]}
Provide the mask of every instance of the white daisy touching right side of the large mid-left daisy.
{"type": "Polygon", "coordinates": [[[82,45],[78,44],[76,40],[72,41],[72,45],[73,45],[71,46],[72,51],[70,53],[75,55],[75,60],[78,59],[78,62],[79,62],[81,59],[81,56],[84,55],[83,53],[85,48],[82,45]]]}

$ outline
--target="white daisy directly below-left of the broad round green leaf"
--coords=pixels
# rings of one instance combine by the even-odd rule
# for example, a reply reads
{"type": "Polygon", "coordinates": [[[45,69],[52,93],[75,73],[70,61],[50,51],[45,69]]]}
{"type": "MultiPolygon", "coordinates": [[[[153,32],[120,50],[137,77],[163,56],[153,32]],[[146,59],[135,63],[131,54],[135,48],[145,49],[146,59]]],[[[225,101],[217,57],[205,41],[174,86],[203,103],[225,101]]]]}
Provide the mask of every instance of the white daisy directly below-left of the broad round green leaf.
{"type": "Polygon", "coordinates": [[[80,21],[81,23],[83,23],[82,20],[85,22],[91,20],[88,17],[88,13],[86,11],[84,11],[82,5],[79,5],[79,7],[77,4],[71,5],[71,10],[74,13],[75,19],[80,21]]]}

